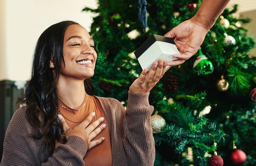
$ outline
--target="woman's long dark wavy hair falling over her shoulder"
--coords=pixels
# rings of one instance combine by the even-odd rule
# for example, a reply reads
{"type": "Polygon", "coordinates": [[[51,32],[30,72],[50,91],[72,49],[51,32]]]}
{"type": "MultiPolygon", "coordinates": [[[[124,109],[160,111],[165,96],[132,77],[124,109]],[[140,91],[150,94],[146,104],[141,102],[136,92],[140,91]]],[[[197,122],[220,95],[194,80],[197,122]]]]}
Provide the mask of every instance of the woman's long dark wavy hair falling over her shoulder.
{"type": "MultiPolygon", "coordinates": [[[[27,120],[33,127],[32,137],[43,139],[45,149],[54,153],[56,141],[65,143],[63,126],[59,122],[58,115],[58,93],[56,80],[61,70],[63,58],[63,39],[68,26],[78,24],[73,21],[63,21],[47,28],[39,37],[36,44],[32,64],[31,79],[25,86],[24,94],[19,104],[26,105],[27,120]],[[54,78],[49,61],[54,61],[54,78]]],[[[64,63],[65,64],[65,63],[64,63]]],[[[85,90],[92,94],[93,85],[90,79],[86,79],[85,90]]]]}

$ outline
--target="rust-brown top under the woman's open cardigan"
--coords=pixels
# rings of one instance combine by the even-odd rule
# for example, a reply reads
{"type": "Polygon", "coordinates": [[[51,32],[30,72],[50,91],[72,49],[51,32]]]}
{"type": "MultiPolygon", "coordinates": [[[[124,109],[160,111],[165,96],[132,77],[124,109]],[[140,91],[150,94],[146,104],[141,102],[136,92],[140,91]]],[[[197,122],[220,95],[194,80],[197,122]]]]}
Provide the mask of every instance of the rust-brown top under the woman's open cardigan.
{"type": "MultiPolygon", "coordinates": [[[[85,100],[87,100],[85,105],[83,106],[82,104],[82,109],[77,112],[72,112],[61,106],[59,107],[59,110],[61,111],[61,114],[64,116],[66,123],[70,128],[73,128],[76,125],[80,124],[81,121],[83,121],[92,112],[96,113],[94,118],[92,119],[92,122],[100,117],[104,117],[105,120],[103,121],[103,123],[106,124],[106,128],[101,131],[101,133],[99,133],[99,135],[97,135],[97,137],[93,140],[97,140],[101,137],[105,137],[105,140],[101,144],[94,146],[92,149],[87,151],[83,160],[85,162],[85,166],[112,166],[110,129],[106,116],[97,98],[86,95],[83,103],[85,102],[85,100]]],[[[61,100],[59,101],[59,103],[67,107],[61,100]]]]}

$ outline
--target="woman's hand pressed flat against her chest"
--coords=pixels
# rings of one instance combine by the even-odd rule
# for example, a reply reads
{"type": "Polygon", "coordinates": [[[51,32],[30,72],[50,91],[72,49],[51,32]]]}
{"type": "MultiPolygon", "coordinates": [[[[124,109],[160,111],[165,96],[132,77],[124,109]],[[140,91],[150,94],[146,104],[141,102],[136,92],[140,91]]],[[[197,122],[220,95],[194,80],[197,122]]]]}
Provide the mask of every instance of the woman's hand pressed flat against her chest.
{"type": "Polygon", "coordinates": [[[79,125],[77,125],[76,127],[72,128],[72,129],[67,125],[65,119],[61,115],[58,115],[58,118],[59,118],[59,120],[61,120],[61,122],[63,124],[63,130],[65,133],[65,137],[68,138],[71,135],[76,135],[76,136],[83,138],[83,140],[86,142],[88,150],[89,150],[92,147],[103,142],[103,140],[105,139],[104,137],[101,137],[97,140],[92,141],[93,138],[95,138],[97,135],[99,135],[99,133],[101,133],[101,131],[103,131],[103,129],[106,128],[106,124],[101,124],[101,122],[104,121],[103,117],[95,120],[92,124],[90,124],[90,122],[92,121],[92,118],[94,116],[95,116],[95,113],[92,112],[91,114],[88,115],[87,118],[85,118],[85,120],[83,120],[83,122],[81,122],[79,125]],[[99,124],[101,124],[101,125],[99,126],[99,124]]]}

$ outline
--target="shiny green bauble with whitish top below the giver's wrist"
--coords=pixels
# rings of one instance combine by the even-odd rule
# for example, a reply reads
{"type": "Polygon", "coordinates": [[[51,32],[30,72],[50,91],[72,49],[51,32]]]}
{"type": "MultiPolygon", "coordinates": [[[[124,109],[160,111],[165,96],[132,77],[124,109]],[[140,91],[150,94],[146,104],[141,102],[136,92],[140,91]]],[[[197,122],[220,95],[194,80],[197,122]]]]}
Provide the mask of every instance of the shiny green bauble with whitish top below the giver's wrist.
{"type": "Polygon", "coordinates": [[[208,60],[208,58],[203,55],[202,50],[198,50],[199,56],[194,62],[193,69],[195,72],[198,73],[198,75],[208,75],[213,72],[213,65],[211,61],[208,60]]]}

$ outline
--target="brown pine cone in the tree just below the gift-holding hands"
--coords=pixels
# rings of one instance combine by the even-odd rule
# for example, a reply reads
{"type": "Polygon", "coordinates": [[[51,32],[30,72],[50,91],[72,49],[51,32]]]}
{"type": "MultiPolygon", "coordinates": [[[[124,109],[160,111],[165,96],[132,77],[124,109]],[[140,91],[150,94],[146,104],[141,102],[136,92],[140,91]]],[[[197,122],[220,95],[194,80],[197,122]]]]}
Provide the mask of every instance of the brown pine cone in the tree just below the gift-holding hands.
{"type": "Polygon", "coordinates": [[[177,87],[179,84],[178,77],[173,74],[168,74],[168,75],[164,76],[163,84],[164,84],[165,89],[169,93],[173,93],[177,90],[177,87]]]}

